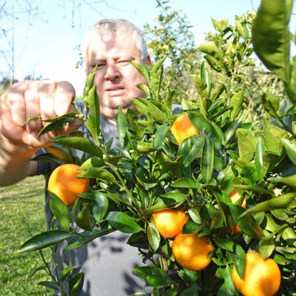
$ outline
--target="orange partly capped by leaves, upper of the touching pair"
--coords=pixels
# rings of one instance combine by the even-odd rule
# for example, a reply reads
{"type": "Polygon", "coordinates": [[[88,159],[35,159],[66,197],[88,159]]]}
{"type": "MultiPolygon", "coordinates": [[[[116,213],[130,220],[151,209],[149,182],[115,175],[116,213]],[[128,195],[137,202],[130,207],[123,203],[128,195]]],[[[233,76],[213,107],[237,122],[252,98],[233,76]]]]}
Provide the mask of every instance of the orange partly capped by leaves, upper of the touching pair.
{"type": "Polygon", "coordinates": [[[176,237],[183,230],[183,225],[188,222],[188,217],[183,211],[162,210],[152,214],[158,232],[167,238],[176,237]]]}

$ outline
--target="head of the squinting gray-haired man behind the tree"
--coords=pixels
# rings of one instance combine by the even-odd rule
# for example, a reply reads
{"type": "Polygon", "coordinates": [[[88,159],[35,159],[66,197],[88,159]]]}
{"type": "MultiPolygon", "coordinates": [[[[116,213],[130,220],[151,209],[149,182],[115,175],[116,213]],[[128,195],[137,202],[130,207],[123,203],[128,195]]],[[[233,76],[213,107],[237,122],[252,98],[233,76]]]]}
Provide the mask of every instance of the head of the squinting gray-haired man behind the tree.
{"type": "Polygon", "coordinates": [[[140,30],[129,21],[99,21],[86,33],[81,49],[87,75],[98,64],[94,84],[103,116],[115,118],[118,106],[126,111],[132,99],[145,96],[135,85],[146,81],[130,61],[151,61],[140,30]]]}

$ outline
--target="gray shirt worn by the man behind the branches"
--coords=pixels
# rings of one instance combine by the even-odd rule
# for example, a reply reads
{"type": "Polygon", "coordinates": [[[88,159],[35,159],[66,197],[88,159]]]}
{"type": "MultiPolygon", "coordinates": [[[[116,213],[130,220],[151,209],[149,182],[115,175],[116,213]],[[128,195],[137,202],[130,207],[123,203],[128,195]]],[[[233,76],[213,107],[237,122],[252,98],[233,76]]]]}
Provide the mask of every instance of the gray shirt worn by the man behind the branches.
{"type": "MultiPolygon", "coordinates": [[[[85,113],[83,104],[78,103],[77,105],[85,113]]],[[[174,113],[180,110],[180,106],[174,106],[174,113]]],[[[108,142],[113,138],[112,146],[118,145],[116,124],[101,116],[101,128],[105,140],[108,142]]],[[[85,129],[84,125],[80,128],[83,132],[85,129]]],[[[37,154],[44,152],[42,150],[40,149],[37,154]]],[[[37,174],[45,176],[46,185],[48,177],[56,167],[57,165],[52,163],[38,162],[37,174]]],[[[53,215],[46,193],[44,208],[47,228],[50,229],[53,215]]],[[[79,270],[83,272],[79,296],[125,296],[136,292],[151,293],[151,287],[148,287],[142,278],[132,274],[133,268],[145,266],[145,264],[142,262],[142,256],[139,255],[138,249],[126,244],[129,236],[130,234],[117,230],[66,254],[62,254],[66,243],[61,243],[56,256],[59,272],[67,266],[64,264],[65,261],[68,265],[75,265],[74,272],[79,270]]],[[[67,291],[66,287],[65,291],[67,291]]]]}

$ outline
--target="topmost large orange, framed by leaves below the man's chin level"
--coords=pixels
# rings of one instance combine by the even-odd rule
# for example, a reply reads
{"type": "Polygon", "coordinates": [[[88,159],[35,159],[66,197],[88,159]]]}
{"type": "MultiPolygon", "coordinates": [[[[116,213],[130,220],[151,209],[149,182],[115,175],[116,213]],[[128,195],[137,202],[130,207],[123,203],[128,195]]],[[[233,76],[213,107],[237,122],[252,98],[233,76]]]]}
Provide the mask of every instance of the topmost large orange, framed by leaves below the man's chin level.
{"type": "Polygon", "coordinates": [[[192,124],[187,114],[178,117],[172,125],[172,134],[180,145],[182,141],[193,135],[198,136],[199,132],[192,124]]]}

